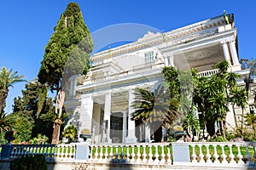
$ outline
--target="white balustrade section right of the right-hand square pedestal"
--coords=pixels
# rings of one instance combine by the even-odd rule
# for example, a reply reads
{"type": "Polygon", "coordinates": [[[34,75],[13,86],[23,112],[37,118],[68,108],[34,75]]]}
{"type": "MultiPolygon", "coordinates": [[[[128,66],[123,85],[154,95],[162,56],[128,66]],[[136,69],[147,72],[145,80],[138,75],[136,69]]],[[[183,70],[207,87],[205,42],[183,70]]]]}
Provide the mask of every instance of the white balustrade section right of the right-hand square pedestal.
{"type": "Polygon", "coordinates": [[[189,150],[190,163],[193,165],[256,166],[255,142],[195,142],[189,143],[189,150]]]}

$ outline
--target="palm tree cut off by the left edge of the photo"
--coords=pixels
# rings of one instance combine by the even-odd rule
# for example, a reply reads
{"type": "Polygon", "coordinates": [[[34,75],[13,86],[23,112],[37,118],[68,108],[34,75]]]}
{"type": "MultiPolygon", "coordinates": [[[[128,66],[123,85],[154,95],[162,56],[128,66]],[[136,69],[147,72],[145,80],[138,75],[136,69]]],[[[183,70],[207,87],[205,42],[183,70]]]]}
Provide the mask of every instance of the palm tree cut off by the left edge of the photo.
{"type": "Polygon", "coordinates": [[[5,99],[7,99],[9,87],[13,87],[15,82],[26,82],[24,77],[17,75],[17,73],[17,71],[12,72],[12,69],[8,71],[5,67],[2,67],[0,71],[0,111],[2,111],[5,99]]]}

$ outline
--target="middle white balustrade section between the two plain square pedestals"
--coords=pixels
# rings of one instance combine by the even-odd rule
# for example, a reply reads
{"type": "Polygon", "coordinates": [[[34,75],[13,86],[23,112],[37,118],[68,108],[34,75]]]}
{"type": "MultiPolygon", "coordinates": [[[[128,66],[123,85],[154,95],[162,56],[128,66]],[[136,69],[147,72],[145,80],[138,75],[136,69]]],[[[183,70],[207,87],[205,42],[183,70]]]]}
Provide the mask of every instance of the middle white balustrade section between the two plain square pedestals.
{"type": "Polygon", "coordinates": [[[89,162],[172,164],[168,143],[92,144],[89,162]]]}

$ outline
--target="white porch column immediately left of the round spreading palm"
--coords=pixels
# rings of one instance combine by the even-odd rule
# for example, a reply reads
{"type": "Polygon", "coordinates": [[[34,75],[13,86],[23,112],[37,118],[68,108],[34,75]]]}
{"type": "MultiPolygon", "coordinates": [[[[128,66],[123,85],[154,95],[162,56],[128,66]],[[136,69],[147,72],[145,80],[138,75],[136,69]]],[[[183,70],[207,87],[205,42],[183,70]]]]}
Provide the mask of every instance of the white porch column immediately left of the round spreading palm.
{"type": "Polygon", "coordinates": [[[132,107],[134,101],[134,94],[133,90],[129,91],[128,99],[129,99],[129,106],[128,106],[128,136],[125,139],[125,143],[137,143],[137,138],[135,135],[135,122],[131,121],[131,113],[135,111],[134,107],[132,107]]]}

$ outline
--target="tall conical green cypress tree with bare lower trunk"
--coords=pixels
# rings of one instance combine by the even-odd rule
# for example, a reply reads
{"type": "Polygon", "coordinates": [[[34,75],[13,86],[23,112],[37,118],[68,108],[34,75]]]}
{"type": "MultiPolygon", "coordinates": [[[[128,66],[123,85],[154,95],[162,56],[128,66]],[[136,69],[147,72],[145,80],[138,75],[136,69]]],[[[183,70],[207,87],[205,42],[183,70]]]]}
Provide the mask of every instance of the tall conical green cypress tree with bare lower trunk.
{"type": "Polygon", "coordinates": [[[86,74],[90,68],[93,42],[77,3],[69,3],[49,39],[44,59],[38,72],[39,82],[48,83],[57,93],[55,129],[52,144],[57,144],[62,123],[62,107],[68,79],[75,74],[86,74]]]}

